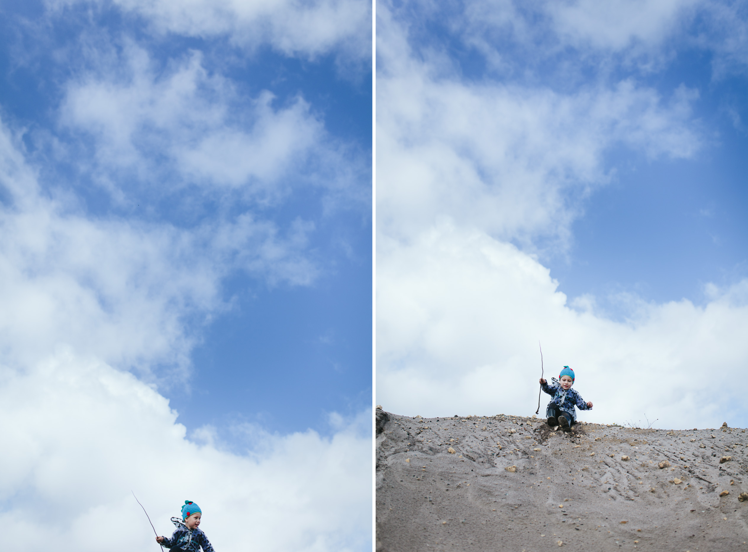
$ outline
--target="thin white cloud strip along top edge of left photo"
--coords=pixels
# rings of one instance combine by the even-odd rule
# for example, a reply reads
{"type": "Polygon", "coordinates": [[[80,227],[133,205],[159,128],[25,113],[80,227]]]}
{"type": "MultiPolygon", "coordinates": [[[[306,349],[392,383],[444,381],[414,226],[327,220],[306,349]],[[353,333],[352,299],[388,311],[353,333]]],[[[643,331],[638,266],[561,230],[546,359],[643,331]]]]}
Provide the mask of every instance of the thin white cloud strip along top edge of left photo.
{"type": "MultiPolygon", "coordinates": [[[[90,0],[47,0],[53,9],[90,0]]],[[[159,34],[230,38],[255,49],[268,44],[285,55],[316,58],[335,52],[344,60],[371,57],[372,4],[367,0],[114,0],[143,17],[159,34]]]]}

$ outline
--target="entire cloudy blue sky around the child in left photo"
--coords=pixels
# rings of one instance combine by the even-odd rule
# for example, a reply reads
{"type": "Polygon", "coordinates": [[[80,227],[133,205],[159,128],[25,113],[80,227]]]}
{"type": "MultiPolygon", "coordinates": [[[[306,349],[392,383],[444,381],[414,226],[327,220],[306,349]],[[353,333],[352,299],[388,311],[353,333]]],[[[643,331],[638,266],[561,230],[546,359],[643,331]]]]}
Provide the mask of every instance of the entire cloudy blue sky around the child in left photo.
{"type": "Polygon", "coordinates": [[[370,3],[0,13],[0,503],[75,512],[10,542],[94,550],[135,489],[218,549],[370,548],[370,3]]]}

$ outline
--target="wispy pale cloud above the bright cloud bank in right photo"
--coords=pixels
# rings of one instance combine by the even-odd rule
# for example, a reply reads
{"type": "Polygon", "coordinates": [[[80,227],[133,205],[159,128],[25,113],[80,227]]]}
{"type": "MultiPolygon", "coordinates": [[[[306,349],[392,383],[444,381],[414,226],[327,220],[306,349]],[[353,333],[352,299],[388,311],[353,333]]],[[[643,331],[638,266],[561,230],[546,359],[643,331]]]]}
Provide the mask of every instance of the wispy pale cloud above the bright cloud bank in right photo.
{"type": "Polygon", "coordinates": [[[407,236],[448,217],[503,239],[563,239],[579,199],[607,182],[613,148],[678,158],[700,147],[686,88],[663,99],[630,80],[569,93],[466,84],[411,57],[406,31],[381,11],[381,232],[407,236]]]}

